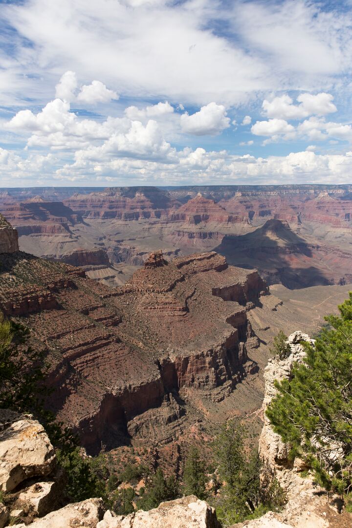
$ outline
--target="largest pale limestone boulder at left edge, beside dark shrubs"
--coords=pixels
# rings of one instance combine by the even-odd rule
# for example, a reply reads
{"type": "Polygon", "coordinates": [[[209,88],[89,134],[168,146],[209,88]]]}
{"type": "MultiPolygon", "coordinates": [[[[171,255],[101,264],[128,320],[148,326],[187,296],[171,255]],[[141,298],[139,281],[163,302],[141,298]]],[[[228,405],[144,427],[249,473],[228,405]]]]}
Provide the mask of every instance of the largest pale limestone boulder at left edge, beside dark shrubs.
{"type": "Polygon", "coordinates": [[[54,448],[37,420],[0,410],[0,489],[12,491],[27,478],[47,476],[55,464],[54,448]]]}

